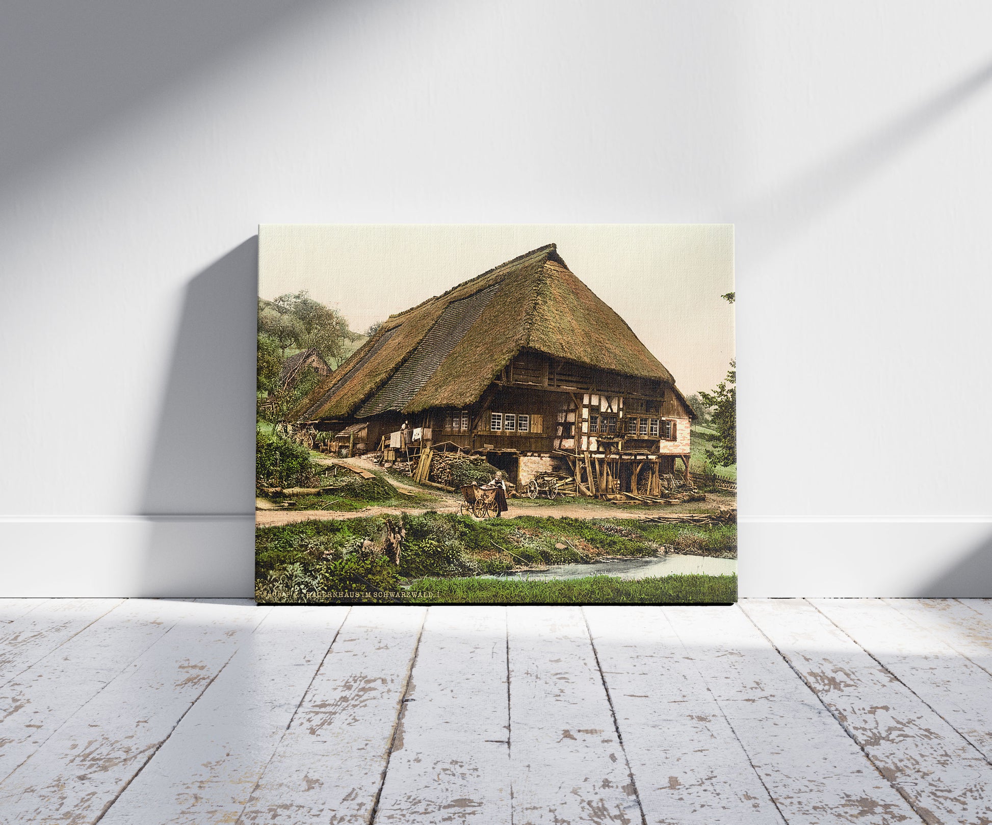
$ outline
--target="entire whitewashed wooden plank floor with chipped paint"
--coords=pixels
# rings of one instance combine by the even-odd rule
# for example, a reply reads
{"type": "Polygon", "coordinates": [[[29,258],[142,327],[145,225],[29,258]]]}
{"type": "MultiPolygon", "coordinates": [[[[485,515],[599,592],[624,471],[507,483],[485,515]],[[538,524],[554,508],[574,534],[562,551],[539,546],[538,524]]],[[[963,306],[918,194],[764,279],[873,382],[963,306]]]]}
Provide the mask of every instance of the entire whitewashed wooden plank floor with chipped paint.
{"type": "Polygon", "coordinates": [[[992,603],[0,600],[2,823],[992,822],[992,603]]]}

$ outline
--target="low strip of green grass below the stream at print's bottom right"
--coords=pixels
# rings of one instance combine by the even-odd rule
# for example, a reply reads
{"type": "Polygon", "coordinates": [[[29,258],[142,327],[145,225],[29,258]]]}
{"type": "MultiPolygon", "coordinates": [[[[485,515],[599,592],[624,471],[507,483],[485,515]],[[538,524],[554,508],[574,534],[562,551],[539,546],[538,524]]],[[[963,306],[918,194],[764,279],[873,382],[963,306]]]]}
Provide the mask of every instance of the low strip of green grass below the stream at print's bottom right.
{"type": "Polygon", "coordinates": [[[507,579],[418,579],[404,598],[413,604],[657,605],[729,604],[737,601],[736,576],[672,575],[627,581],[612,576],[540,582],[507,579]]]}

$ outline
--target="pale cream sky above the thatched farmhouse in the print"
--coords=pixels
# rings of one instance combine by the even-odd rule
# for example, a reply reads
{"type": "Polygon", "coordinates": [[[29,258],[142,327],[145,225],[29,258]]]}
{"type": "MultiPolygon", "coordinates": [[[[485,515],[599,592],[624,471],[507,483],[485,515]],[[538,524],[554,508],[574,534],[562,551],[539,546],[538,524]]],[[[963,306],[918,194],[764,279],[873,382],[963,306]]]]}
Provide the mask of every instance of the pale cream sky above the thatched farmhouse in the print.
{"type": "Polygon", "coordinates": [[[356,332],[546,243],[685,394],[734,357],[731,224],[263,224],[259,295],[306,289],[356,332]]]}

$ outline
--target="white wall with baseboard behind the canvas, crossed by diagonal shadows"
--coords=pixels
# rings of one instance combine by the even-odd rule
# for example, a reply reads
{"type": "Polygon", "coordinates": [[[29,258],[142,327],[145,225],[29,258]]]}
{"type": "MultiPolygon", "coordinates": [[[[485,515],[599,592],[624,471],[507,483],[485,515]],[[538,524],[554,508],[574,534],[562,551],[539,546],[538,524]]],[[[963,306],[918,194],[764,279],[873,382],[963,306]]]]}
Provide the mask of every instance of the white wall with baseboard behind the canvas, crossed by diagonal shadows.
{"type": "Polygon", "coordinates": [[[742,594],[992,596],[990,24],[6,4],[2,595],[250,593],[258,222],[730,221],[742,594]]]}

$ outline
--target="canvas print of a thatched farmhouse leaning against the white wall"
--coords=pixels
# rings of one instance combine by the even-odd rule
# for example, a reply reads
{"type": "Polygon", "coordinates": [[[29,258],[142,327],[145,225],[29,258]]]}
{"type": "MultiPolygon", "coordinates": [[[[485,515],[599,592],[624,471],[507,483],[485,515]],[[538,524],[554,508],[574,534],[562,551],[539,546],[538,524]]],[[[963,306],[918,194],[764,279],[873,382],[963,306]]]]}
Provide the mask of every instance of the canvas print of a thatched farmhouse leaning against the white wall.
{"type": "Polygon", "coordinates": [[[256,598],[736,600],[729,225],[263,225],[256,598]]]}

